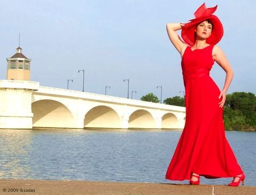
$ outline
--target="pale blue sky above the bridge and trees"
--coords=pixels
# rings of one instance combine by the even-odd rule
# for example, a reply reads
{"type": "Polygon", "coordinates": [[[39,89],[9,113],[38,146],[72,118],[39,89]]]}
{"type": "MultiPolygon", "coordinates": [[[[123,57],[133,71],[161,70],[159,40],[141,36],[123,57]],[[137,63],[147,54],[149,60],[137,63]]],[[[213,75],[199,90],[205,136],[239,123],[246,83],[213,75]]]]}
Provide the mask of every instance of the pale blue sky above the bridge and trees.
{"type": "MultiPolygon", "coordinates": [[[[188,22],[203,2],[224,26],[218,46],[228,57],[234,79],[228,94],[256,91],[256,1],[254,0],[0,0],[0,79],[6,58],[31,59],[31,81],[40,86],[141,99],[150,92],[162,100],[183,96],[180,55],[166,23],[188,22]]],[[[222,89],[225,72],[215,63],[210,73],[222,89]]]]}

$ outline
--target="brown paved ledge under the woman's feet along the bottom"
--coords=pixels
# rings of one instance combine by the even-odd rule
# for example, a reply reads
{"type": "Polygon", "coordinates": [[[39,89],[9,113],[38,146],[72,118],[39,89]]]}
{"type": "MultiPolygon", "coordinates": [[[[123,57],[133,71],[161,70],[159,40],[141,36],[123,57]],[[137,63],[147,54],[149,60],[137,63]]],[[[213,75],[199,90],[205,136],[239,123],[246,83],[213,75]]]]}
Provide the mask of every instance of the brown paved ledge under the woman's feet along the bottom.
{"type": "Polygon", "coordinates": [[[119,183],[98,181],[0,180],[0,194],[175,194],[255,195],[256,186],[119,183]]]}

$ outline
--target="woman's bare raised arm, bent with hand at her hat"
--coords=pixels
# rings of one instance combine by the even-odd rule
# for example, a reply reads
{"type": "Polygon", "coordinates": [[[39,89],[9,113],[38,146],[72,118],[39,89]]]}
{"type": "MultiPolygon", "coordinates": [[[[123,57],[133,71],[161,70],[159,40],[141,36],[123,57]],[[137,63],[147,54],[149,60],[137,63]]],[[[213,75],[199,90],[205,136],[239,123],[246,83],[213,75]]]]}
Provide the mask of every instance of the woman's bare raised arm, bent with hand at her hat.
{"type": "Polygon", "coordinates": [[[167,23],[166,29],[171,40],[172,44],[178,50],[178,52],[183,56],[185,48],[187,48],[187,44],[185,44],[179,37],[176,31],[180,30],[184,24],[181,23],[167,23]]]}

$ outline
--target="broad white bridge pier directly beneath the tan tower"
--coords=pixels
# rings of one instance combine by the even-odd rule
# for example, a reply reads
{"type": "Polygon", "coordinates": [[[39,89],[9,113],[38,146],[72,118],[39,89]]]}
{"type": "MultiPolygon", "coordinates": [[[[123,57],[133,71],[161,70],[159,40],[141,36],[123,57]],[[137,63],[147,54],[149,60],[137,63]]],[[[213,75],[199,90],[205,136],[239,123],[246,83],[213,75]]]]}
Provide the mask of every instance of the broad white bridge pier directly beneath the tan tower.
{"type": "Polygon", "coordinates": [[[32,129],[32,93],[38,82],[0,80],[0,129],[32,129]]]}

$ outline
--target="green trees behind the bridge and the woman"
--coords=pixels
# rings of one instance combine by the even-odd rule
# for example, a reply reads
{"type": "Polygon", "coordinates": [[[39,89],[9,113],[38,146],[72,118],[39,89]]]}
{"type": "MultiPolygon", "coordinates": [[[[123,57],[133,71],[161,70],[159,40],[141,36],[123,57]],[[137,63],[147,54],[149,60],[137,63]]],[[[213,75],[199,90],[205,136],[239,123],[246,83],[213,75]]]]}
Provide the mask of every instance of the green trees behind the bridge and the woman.
{"type": "MultiPolygon", "coordinates": [[[[141,100],[159,103],[152,93],[142,96],[141,100]]],[[[174,96],[163,101],[164,104],[185,106],[184,98],[174,96]]],[[[226,95],[224,105],[224,124],[226,130],[256,130],[256,97],[251,92],[233,92],[226,95]]]]}

